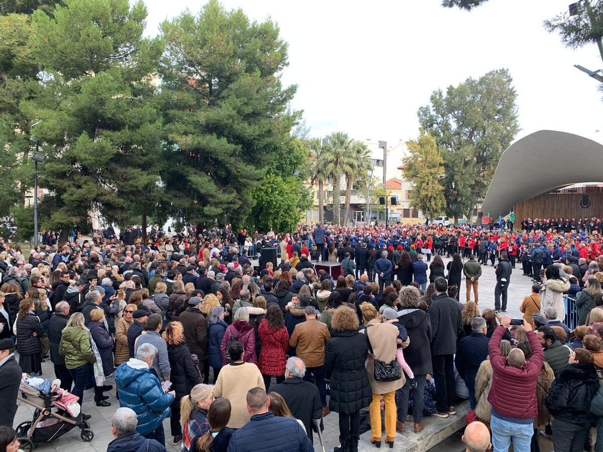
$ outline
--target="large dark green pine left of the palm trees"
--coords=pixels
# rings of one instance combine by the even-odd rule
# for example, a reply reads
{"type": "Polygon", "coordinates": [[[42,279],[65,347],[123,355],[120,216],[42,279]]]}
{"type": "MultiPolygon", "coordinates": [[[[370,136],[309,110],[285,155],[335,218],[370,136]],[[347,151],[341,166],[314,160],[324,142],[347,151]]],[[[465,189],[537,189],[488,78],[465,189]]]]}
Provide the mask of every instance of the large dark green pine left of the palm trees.
{"type": "Polygon", "coordinates": [[[295,86],[282,87],[287,45],[267,20],[210,0],[163,22],[162,90],[169,146],[162,180],[171,216],[240,225],[253,207],[270,154],[288,140],[295,86]]]}

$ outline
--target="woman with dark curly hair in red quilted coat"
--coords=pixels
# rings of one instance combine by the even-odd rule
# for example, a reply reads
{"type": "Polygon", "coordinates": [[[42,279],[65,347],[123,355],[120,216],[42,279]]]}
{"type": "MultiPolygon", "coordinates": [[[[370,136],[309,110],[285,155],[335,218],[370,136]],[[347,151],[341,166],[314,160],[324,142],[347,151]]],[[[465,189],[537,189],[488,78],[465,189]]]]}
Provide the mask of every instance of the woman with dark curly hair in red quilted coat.
{"type": "Polygon", "coordinates": [[[257,328],[262,350],[257,366],[264,377],[266,391],[270,388],[270,380],[276,377],[276,383],[285,381],[285,364],[289,351],[289,333],[283,321],[283,312],[276,304],[268,306],[266,316],[257,328]]]}

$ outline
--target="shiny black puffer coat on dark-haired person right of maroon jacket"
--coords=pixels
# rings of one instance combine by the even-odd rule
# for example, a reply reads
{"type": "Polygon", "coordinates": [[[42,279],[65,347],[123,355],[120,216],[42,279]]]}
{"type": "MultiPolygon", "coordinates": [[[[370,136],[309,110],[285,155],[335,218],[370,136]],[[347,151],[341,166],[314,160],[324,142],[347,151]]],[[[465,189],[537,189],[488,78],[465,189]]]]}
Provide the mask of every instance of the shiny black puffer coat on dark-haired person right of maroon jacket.
{"type": "Polygon", "coordinates": [[[555,419],[578,424],[595,425],[590,402],[599,391],[599,380],[592,364],[570,364],[553,380],[545,405],[555,419]]]}

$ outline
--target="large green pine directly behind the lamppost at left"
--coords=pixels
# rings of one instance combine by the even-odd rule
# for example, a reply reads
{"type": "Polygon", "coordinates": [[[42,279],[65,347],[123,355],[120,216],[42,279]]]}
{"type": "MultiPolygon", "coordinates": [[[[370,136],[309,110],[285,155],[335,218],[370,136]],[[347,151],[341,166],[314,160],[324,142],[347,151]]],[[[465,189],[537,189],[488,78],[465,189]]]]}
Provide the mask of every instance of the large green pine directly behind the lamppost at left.
{"type": "Polygon", "coordinates": [[[163,43],[142,37],[146,17],[142,2],[127,0],[66,0],[53,17],[33,14],[30,45],[43,74],[21,110],[42,119],[41,209],[62,239],[87,227],[90,210],[124,224],[159,181],[146,164],[162,148],[152,80],[163,43]]]}

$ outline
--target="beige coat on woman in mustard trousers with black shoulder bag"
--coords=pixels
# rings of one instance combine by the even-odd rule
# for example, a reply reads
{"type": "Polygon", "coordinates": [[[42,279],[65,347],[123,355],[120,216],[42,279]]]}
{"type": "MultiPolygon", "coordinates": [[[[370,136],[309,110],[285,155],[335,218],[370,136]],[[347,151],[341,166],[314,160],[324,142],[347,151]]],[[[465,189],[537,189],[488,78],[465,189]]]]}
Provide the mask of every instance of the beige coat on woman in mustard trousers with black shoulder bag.
{"type": "MultiPolygon", "coordinates": [[[[370,339],[371,347],[373,348],[374,357],[386,363],[391,362],[396,357],[396,339],[399,334],[398,328],[391,323],[381,323],[379,322],[379,319],[371,320],[366,326],[367,328],[363,332],[366,334],[368,331],[368,338],[370,339]]],[[[408,344],[410,344],[410,339],[406,339],[402,344],[402,348],[408,347],[408,344]]],[[[367,368],[368,381],[370,381],[373,394],[387,394],[388,392],[402,388],[404,383],[406,383],[404,372],[402,372],[402,378],[400,378],[400,380],[375,381],[375,365],[370,350],[368,351],[365,367],[367,368]]]]}

